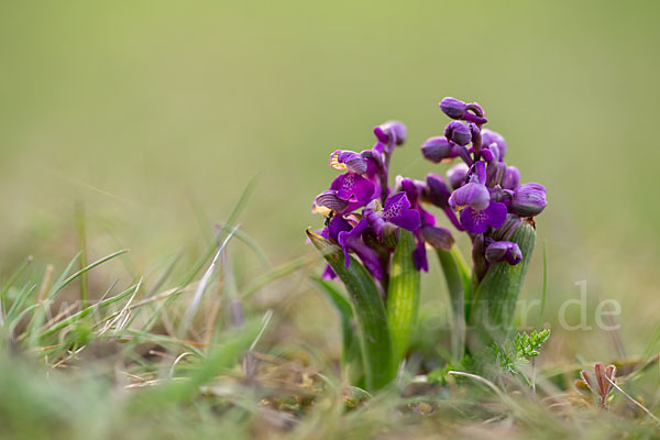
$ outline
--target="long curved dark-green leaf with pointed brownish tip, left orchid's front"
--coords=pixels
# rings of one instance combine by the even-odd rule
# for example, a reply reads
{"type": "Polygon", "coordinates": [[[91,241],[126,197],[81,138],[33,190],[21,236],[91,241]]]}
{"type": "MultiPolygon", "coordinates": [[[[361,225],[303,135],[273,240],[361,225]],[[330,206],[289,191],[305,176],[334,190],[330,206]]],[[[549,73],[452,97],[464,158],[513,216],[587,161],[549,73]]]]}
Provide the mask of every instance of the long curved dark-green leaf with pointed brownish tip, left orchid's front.
{"type": "Polygon", "coordinates": [[[381,293],[371,274],[355,258],[350,257],[346,267],[339,246],[310,230],[307,230],[307,235],[351,295],[362,348],[366,388],[370,392],[383,388],[394,380],[396,371],[392,361],[392,341],[381,293]]]}

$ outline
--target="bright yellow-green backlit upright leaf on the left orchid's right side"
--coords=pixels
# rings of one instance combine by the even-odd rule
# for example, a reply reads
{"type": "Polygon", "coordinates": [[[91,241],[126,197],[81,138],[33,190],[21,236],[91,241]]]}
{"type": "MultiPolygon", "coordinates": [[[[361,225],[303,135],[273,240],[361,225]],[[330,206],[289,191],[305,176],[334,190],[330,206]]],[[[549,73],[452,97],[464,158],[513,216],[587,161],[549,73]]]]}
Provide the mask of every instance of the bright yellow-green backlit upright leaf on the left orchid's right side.
{"type": "Polygon", "coordinates": [[[410,334],[417,323],[420,276],[415,267],[413,251],[415,238],[411,232],[402,229],[392,257],[387,287],[387,322],[392,336],[394,369],[406,354],[410,334]]]}

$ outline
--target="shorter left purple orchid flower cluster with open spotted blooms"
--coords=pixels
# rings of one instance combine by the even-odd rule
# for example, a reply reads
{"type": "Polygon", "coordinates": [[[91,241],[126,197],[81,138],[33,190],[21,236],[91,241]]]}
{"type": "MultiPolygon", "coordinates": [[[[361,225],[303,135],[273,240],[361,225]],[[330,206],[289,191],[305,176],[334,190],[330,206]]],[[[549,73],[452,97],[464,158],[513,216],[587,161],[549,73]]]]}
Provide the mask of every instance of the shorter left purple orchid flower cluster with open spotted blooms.
{"type": "MultiPolygon", "coordinates": [[[[339,150],[330,155],[330,166],[344,173],[315,198],[312,211],[327,216],[320,235],[342,248],[346,267],[353,253],[385,285],[399,228],[415,235],[413,257],[422,271],[428,270],[425,243],[449,250],[453,238],[422,208],[429,197],[425,184],[397,176],[395,187],[388,186],[392,155],[406,141],[406,127],[388,121],[376,127],[374,134],[376,141],[370,150],[339,150]]],[[[336,275],[327,266],[323,276],[336,275]]]]}

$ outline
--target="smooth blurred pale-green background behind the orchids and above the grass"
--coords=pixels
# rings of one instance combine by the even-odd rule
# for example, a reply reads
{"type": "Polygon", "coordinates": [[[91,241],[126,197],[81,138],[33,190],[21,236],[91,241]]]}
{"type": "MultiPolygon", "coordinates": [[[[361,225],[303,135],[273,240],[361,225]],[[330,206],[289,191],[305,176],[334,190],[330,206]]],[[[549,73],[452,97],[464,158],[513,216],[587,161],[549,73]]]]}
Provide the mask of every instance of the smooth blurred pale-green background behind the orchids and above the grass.
{"type": "MultiPolygon", "coordinates": [[[[453,96],[479,101],[507,162],[548,188],[549,319],[586,280],[592,306],[620,300],[639,352],[660,312],[659,4],[3,1],[0,268],[69,260],[77,200],[90,258],[127,246],[138,273],[179,250],[193,261],[255,175],[242,229],[288,261],[322,222],[309,211],[329,153],[399,119],[394,170],[442,173],[419,145],[453,96]]],[[[539,246],[529,298],[541,266],[539,246]]],[[[586,358],[612,351],[598,330],[556,344],[576,337],[586,358]]]]}

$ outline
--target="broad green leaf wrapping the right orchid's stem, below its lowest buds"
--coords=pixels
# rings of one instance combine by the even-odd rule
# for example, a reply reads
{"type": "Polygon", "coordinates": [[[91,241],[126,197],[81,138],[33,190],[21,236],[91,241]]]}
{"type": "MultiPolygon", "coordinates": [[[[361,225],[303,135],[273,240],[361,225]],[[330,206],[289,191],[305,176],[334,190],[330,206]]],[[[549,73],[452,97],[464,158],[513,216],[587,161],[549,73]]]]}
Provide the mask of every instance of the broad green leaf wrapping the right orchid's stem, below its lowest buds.
{"type": "Polygon", "coordinates": [[[534,226],[524,220],[509,240],[520,248],[522,261],[515,266],[506,262],[493,264],[474,295],[470,322],[485,344],[502,342],[512,333],[516,302],[534,252],[534,226]]]}

